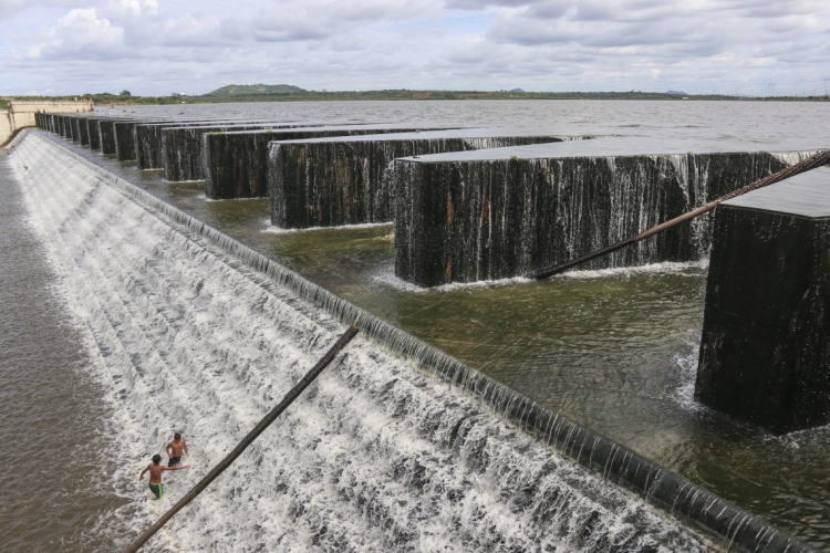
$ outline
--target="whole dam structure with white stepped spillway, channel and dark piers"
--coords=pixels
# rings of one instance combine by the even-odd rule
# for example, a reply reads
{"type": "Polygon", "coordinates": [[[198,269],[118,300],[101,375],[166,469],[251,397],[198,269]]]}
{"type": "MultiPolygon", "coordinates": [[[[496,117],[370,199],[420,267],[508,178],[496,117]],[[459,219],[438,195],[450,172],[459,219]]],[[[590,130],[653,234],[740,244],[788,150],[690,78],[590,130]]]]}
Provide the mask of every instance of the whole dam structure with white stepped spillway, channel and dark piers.
{"type": "Polygon", "coordinates": [[[351,324],[151,549],[830,546],[818,472],[793,476],[830,451],[829,168],[532,278],[819,159],[822,140],[31,107],[7,115],[35,128],[3,167],[129,470],[170,425],[198,444],[162,501],[123,492],[114,549],[351,324]],[[795,430],[809,446],[790,458],[795,430]]]}

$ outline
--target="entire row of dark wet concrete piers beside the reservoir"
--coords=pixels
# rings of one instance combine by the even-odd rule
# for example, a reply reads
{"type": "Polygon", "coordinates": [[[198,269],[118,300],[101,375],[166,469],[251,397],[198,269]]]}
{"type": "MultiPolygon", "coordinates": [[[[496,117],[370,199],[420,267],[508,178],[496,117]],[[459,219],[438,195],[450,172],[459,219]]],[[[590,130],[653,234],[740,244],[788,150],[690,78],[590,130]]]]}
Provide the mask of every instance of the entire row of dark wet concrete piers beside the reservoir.
{"type": "MultiPolygon", "coordinates": [[[[82,119],[44,128],[83,144],[82,119]]],[[[205,178],[211,198],[270,197],[280,227],[394,221],[396,275],[424,286],[567,261],[813,153],[644,155],[473,129],[85,119],[105,122],[96,124],[102,140],[110,125],[116,143],[117,129],[131,128],[136,157],[141,133],[156,133],[158,150],[178,156],[166,168],[205,178]]],[[[809,204],[826,205],[830,178],[811,178],[789,196],[824,186],[809,204]]],[[[780,202],[754,206],[755,197],[588,268],[692,261],[713,247],[696,396],[782,434],[830,422],[830,209],[788,212],[780,202]]]]}

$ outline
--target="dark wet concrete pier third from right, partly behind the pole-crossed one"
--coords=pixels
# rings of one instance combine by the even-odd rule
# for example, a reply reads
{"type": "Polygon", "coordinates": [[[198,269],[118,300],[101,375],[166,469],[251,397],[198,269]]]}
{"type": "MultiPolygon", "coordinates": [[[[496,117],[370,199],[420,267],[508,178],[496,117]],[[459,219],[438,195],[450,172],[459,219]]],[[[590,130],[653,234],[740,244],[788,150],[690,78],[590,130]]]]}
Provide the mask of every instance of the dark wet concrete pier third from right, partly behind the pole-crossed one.
{"type": "Polygon", "coordinates": [[[271,222],[282,228],[392,221],[392,161],[403,156],[570,139],[492,128],[461,128],[272,143],[271,222]]]}

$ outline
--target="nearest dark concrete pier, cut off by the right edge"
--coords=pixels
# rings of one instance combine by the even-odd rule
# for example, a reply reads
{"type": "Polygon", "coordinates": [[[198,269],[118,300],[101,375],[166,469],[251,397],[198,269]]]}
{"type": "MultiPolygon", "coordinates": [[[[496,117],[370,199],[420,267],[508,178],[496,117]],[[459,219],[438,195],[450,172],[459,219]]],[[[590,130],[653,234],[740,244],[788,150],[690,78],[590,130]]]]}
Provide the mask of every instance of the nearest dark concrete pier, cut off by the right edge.
{"type": "Polygon", "coordinates": [[[830,422],[830,168],[718,206],[695,397],[774,434],[830,422]]]}

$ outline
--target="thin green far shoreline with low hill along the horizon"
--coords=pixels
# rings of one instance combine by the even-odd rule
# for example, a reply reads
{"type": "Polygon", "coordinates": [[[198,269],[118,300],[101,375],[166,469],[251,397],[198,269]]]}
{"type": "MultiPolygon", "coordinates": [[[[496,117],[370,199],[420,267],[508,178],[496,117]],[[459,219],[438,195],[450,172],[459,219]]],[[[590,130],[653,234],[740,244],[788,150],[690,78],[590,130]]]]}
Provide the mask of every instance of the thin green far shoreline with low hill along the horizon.
{"type": "MultiPolygon", "coordinates": [[[[107,92],[77,96],[14,96],[15,100],[74,100],[91,98],[95,105],[158,105],[158,104],[207,104],[226,102],[332,102],[332,101],[396,101],[396,100],[653,100],[653,101],[740,101],[740,102],[827,102],[828,96],[772,96],[747,97],[726,94],[684,94],[660,92],[520,92],[520,91],[305,91],[298,86],[278,85],[228,85],[207,94],[189,96],[133,96],[129,91],[118,94],[107,92]]],[[[7,100],[0,100],[4,108],[7,100]]]]}

